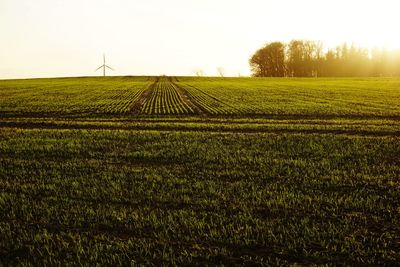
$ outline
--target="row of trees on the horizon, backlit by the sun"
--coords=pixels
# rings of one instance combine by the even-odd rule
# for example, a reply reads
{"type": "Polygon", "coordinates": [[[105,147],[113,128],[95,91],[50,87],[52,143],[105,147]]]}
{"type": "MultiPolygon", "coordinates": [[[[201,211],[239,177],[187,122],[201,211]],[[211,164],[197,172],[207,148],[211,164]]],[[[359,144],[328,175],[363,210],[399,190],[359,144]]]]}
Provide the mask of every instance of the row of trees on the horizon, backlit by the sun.
{"type": "Polygon", "coordinates": [[[250,58],[256,77],[400,76],[400,50],[366,49],[346,43],[324,49],[321,42],[271,42],[250,58]]]}

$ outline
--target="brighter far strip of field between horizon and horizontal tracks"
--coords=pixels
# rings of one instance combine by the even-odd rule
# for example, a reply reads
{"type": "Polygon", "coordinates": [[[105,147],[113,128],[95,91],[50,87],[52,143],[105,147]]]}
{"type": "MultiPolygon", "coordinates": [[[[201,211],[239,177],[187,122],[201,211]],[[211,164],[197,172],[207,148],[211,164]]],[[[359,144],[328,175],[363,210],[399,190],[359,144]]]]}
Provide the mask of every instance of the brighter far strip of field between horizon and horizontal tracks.
{"type": "Polygon", "coordinates": [[[107,77],[0,81],[3,114],[400,114],[399,78],[107,77]]]}

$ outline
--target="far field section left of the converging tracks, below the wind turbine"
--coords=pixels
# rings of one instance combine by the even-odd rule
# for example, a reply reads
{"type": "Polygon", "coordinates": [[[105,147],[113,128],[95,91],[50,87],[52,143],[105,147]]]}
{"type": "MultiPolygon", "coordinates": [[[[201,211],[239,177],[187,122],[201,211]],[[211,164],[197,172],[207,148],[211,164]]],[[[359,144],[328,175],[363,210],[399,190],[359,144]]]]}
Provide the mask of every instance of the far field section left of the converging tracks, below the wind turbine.
{"type": "Polygon", "coordinates": [[[152,81],[81,78],[0,82],[0,112],[126,113],[152,81]]]}

